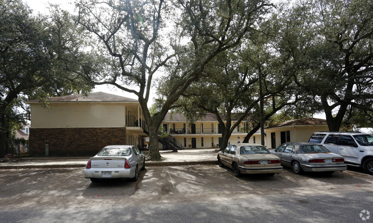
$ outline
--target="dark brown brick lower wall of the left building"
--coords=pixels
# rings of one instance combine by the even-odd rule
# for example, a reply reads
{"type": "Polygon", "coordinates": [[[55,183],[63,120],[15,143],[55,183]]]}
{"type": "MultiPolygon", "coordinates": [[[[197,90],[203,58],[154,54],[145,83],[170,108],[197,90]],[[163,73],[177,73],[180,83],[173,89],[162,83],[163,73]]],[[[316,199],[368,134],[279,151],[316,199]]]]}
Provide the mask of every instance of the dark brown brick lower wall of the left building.
{"type": "Polygon", "coordinates": [[[126,145],[126,128],[31,128],[30,155],[45,156],[45,140],[50,156],[94,156],[104,146],[126,145]]]}

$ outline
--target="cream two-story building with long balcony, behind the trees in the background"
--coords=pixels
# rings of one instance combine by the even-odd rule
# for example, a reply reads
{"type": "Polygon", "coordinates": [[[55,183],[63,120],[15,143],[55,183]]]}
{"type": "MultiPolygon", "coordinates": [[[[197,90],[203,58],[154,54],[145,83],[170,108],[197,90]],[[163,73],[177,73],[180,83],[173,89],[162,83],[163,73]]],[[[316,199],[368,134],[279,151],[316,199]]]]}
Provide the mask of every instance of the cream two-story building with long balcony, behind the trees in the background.
{"type": "MultiPolygon", "coordinates": [[[[243,126],[243,124],[241,123],[240,126],[243,126]]],[[[217,148],[222,143],[222,131],[215,114],[207,113],[205,117],[189,126],[183,114],[168,113],[164,118],[162,127],[185,148],[217,148]]],[[[246,135],[247,132],[237,127],[233,130],[229,143],[242,142],[246,135]]],[[[266,142],[266,140],[264,141],[266,142]]],[[[251,136],[249,142],[260,144],[260,132],[251,136]]],[[[159,143],[159,149],[163,149],[161,143],[159,143]]]]}

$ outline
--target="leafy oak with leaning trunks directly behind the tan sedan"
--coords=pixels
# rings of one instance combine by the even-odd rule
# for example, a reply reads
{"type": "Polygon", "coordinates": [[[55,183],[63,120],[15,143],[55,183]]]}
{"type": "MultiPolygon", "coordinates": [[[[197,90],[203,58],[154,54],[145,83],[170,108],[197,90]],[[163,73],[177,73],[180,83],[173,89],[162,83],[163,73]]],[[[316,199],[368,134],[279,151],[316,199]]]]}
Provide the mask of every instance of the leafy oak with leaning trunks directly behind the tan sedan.
{"type": "Polygon", "coordinates": [[[248,142],[260,129],[259,81],[263,86],[263,122],[282,109],[294,109],[296,104],[310,100],[294,83],[299,69],[288,39],[280,37],[285,31],[280,26],[276,15],[263,20],[239,46],[214,58],[206,67],[206,77],[192,84],[175,103],[180,107],[175,111],[183,112],[191,123],[206,112],[216,115],[222,130],[220,150],[228,145],[235,128],[248,132],[242,142],[248,142]]]}

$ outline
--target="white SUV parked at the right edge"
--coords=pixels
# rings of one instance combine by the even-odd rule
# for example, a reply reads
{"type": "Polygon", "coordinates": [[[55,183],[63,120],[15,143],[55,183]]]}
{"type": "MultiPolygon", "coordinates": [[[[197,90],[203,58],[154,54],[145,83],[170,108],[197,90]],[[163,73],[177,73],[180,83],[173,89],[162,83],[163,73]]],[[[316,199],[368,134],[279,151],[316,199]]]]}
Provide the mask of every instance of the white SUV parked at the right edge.
{"type": "Polygon", "coordinates": [[[373,175],[373,134],[361,132],[315,132],[308,142],[324,145],[330,152],[342,155],[345,164],[363,166],[373,175]]]}

